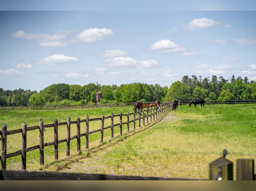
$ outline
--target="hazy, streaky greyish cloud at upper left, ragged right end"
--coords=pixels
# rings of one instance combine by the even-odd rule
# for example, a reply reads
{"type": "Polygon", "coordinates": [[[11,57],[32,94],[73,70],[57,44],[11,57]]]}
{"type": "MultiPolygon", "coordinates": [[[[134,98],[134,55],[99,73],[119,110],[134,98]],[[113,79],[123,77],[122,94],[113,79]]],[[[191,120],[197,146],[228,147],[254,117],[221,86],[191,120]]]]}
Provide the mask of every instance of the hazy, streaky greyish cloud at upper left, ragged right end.
{"type": "Polygon", "coordinates": [[[20,30],[15,33],[12,33],[10,36],[35,41],[39,44],[39,46],[61,47],[68,46],[70,44],[62,42],[65,38],[67,38],[67,34],[70,33],[70,31],[59,31],[54,34],[48,35],[40,33],[25,33],[24,31],[20,30]]]}

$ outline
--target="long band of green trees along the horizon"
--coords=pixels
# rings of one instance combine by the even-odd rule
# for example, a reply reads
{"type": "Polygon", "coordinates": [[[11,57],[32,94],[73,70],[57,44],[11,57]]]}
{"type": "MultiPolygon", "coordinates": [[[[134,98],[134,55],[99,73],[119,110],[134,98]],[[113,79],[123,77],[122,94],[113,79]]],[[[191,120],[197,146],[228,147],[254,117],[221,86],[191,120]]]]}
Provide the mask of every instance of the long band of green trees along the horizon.
{"type": "Polygon", "coordinates": [[[28,106],[28,105],[77,105],[95,104],[96,93],[101,91],[100,103],[131,103],[137,100],[151,102],[159,99],[169,101],[175,98],[190,100],[202,97],[206,100],[242,100],[256,99],[256,82],[248,81],[240,76],[231,79],[202,78],[192,75],[183,76],[167,86],[159,84],[131,83],[117,85],[95,85],[89,83],[84,86],[69,84],[52,84],[39,93],[31,90],[3,90],[0,88],[0,106],[28,106]]]}

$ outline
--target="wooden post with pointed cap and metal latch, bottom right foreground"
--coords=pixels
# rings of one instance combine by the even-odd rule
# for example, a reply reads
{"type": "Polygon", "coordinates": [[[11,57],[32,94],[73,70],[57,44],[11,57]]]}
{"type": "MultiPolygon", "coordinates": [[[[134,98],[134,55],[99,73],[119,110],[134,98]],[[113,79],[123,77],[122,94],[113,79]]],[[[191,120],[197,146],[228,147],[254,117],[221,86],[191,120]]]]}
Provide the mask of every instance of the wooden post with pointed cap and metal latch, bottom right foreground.
{"type": "Polygon", "coordinates": [[[225,159],[226,154],[224,149],[222,157],[209,164],[209,180],[233,180],[233,163],[225,159]]]}

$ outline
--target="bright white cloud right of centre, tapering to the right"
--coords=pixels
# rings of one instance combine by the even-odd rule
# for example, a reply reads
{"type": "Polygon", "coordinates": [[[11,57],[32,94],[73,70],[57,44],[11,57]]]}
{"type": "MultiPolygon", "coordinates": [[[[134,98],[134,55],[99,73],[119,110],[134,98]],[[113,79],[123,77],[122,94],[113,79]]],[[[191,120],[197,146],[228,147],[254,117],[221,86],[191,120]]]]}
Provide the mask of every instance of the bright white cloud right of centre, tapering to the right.
{"type": "Polygon", "coordinates": [[[169,39],[160,40],[155,42],[150,47],[151,50],[161,50],[163,52],[177,52],[184,51],[185,49],[170,41],[169,39]]]}

